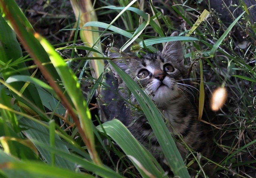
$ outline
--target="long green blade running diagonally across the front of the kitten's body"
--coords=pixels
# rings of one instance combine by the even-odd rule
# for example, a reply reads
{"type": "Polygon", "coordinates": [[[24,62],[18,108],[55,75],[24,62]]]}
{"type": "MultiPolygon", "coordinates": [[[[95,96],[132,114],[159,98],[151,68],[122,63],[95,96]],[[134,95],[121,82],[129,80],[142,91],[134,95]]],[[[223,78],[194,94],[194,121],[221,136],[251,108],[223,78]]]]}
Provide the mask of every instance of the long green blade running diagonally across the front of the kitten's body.
{"type": "Polygon", "coordinates": [[[172,172],[175,176],[180,176],[182,178],[188,178],[188,170],[180,156],[178,148],[168,131],[159,110],[154,105],[153,101],[148,97],[148,94],[145,93],[130,77],[127,73],[122,71],[113,61],[108,61],[110,65],[116,70],[118,75],[124,80],[127,87],[134,94],[134,97],[140,104],[148,123],[154,131],[154,134],[164,152],[166,160],[171,167],[172,172]],[[138,94],[140,93],[140,95],[138,94]]]}

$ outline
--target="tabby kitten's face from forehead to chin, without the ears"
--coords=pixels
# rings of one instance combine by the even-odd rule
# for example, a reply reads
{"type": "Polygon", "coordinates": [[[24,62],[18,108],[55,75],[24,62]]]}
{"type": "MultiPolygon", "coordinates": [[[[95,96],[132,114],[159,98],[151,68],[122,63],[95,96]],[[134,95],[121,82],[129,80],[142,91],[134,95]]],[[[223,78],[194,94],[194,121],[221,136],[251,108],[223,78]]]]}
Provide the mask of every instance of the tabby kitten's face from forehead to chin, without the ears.
{"type": "Polygon", "coordinates": [[[183,61],[164,56],[163,52],[130,59],[128,74],[139,83],[157,105],[163,105],[181,93],[177,82],[185,77],[183,61]]]}

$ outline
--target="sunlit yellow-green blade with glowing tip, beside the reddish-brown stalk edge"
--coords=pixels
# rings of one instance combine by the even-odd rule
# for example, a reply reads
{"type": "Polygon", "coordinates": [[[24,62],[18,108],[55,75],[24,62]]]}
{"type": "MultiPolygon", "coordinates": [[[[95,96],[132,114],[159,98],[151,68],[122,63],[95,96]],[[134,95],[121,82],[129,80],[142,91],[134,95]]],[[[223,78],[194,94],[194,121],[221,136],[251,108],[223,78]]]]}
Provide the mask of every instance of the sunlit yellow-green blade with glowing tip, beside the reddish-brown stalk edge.
{"type": "MultiPolygon", "coordinates": [[[[98,158],[98,154],[95,150],[91,114],[86,105],[86,101],[84,100],[84,96],[82,95],[82,91],[76,79],[76,76],[68,68],[63,58],[54,50],[52,45],[50,45],[44,38],[42,38],[39,35],[37,36],[37,39],[42,44],[46,52],[48,53],[54,67],[56,67],[56,70],[58,71],[62,79],[63,85],[68,95],[70,96],[70,99],[73,102],[73,105],[78,113],[81,129],[82,129],[82,131],[80,132],[84,132],[80,134],[82,134],[81,136],[84,139],[86,146],[88,147],[88,150],[92,156],[92,159],[97,164],[101,164],[100,159],[98,158]]],[[[76,116],[73,115],[72,118],[75,119],[74,117],[76,116]]],[[[79,123],[77,123],[76,120],[75,122],[76,122],[76,126],[80,128],[79,123]]]]}

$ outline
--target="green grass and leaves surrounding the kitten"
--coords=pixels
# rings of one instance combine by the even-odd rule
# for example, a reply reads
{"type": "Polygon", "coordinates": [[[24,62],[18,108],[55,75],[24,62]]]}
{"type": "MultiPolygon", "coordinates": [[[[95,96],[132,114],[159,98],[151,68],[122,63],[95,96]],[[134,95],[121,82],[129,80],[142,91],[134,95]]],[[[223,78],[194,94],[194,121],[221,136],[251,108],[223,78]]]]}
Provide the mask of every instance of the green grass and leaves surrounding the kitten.
{"type": "MultiPolygon", "coordinates": [[[[199,0],[84,3],[96,13],[79,12],[84,9],[72,4],[76,19],[69,16],[68,24],[63,24],[61,30],[42,37],[25,17],[30,10],[19,11],[13,0],[0,2],[0,175],[170,176],[119,121],[101,123],[108,118],[98,114],[96,108],[100,90],[109,89],[104,81],[109,65],[104,67],[97,60],[110,60],[110,65],[117,67],[104,56],[102,49],[109,44],[128,52],[131,47],[132,55],[142,56],[161,49],[163,42],[182,40],[190,78],[194,87],[200,89],[200,93],[193,94],[201,100],[201,121],[209,128],[212,155],[206,159],[216,165],[214,172],[220,177],[255,177],[256,25],[250,16],[255,7],[240,1],[233,5],[240,14],[223,19],[220,12],[199,0]],[[198,20],[204,9],[210,16],[198,20]],[[93,20],[87,22],[88,16],[93,20]],[[172,31],[181,36],[168,37],[172,31]],[[60,40],[63,34],[65,38],[60,40]],[[93,38],[86,38],[92,34],[93,38]],[[212,111],[210,98],[218,87],[226,89],[226,103],[220,110],[212,111]],[[46,169],[50,171],[45,172],[46,169]]],[[[47,6],[50,15],[44,14],[44,22],[62,20],[63,16],[51,10],[51,4],[47,6]]],[[[40,22],[36,26],[40,28],[40,22]]],[[[126,73],[116,70],[136,95],[173,174],[189,177],[187,170],[191,170],[192,162],[181,159],[154,103],[132,84],[126,73]]],[[[195,159],[204,157],[191,152],[195,159]]],[[[202,169],[196,172],[207,177],[202,169]]]]}

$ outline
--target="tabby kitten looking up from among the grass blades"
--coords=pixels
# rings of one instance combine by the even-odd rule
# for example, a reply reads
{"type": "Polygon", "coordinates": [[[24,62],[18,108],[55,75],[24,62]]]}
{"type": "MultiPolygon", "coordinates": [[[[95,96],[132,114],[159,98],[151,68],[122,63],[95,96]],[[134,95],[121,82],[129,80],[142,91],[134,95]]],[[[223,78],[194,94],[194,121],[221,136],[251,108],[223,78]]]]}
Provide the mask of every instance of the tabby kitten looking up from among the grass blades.
{"type": "MultiPolygon", "coordinates": [[[[172,36],[176,35],[175,32],[172,34],[172,36]]],[[[125,53],[118,53],[116,48],[108,49],[107,54],[108,57],[128,56],[125,53]]],[[[148,53],[142,58],[124,58],[114,61],[152,97],[152,100],[166,118],[170,132],[174,135],[181,135],[184,142],[192,150],[202,152],[205,155],[208,152],[205,149],[206,137],[200,123],[197,121],[198,114],[194,104],[195,101],[193,101],[192,93],[188,88],[190,80],[186,79],[188,76],[184,67],[181,43],[178,41],[167,42],[163,50],[157,53],[148,53]]],[[[136,111],[125,102],[130,101],[133,105],[137,105],[136,99],[114,69],[112,69],[112,72],[116,80],[111,80],[111,75],[108,74],[107,83],[114,86],[114,90],[118,92],[119,96],[109,91],[103,94],[105,101],[110,101],[112,97],[115,98],[108,106],[110,107],[109,110],[107,107],[103,108],[106,110],[106,117],[120,119],[128,126],[134,137],[150,150],[158,160],[164,160],[163,154],[160,153],[161,149],[158,141],[146,117],[142,112],[136,111]],[[120,99],[120,97],[125,100],[120,99]]],[[[177,142],[176,145],[182,157],[185,158],[188,153],[186,148],[180,142],[177,142]]]]}

